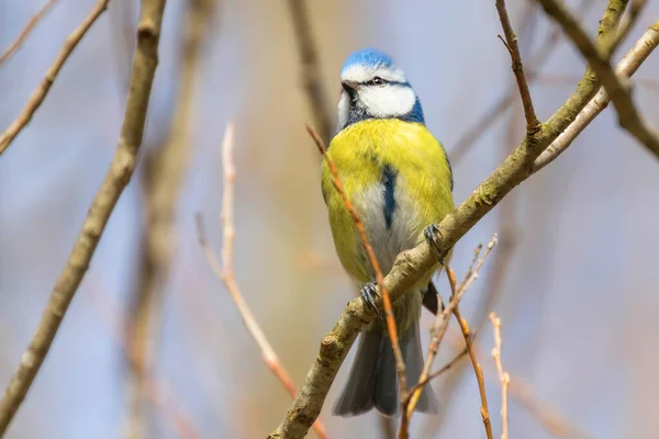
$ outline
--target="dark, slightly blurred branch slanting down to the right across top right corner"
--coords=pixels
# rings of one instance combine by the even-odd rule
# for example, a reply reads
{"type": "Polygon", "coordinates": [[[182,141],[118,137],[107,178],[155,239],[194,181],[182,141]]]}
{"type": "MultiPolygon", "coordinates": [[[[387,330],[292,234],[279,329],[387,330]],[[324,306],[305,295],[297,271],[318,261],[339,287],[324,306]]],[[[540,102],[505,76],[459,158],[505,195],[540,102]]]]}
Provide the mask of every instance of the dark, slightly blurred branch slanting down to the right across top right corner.
{"type": "Polygon", "coordinates": [[[611,97],[618,114],[621,126],[629,132],[657,158],[659,158],[659,133],[651,127],[638,111],[628,81],[616,75],[610,61],[610,50],[606,44],[596,46],[579,24],[577,19],[555,0],[538,0],[548,15],[558,22],[572,40],[581,55],[588,59],[597,79],[611,97]]]}

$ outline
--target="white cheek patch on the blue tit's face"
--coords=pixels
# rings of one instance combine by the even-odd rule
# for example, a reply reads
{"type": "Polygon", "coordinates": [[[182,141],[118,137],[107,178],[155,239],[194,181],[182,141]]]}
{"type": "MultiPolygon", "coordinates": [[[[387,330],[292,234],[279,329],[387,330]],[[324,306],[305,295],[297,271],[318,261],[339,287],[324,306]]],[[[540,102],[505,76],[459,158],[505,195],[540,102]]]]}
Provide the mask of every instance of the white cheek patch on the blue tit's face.
{"type": "Polygon", "coordinates": [[[416,102],[414,91],[401,86],[368,87],[359,92],[359,99],[373,117],[402,116],[416,102]]]}

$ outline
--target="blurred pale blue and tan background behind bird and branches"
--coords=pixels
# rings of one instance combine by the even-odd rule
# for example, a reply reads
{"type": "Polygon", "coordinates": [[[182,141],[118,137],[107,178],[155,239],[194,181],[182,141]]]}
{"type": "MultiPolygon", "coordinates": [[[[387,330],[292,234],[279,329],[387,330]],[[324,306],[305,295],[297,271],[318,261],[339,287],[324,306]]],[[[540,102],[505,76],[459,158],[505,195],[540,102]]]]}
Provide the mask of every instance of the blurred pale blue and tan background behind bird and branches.
{"type": "MultiPolygon", "coordinates": [[[[568,3],[594,35],[606,2],[568,3]]],[[[659,2],[648,3],[616,59],[658,19],[659,2]]],[[[2,49],[43,4],[0,3],[2,49]]],[[[320,158],[304,131],[311,122],[327,136],[326,114],[333,131],[343,60],[372,46],[406,71],[428,127],[451,157],[458,203],[524,134],[516,94],[511,105],[500,105],[514,78],[496,38],[494,2],[447,4],[168,1],[138,169],[8,437],[260,438],[276,428],[290,397],[211,271],[194,226],[199,212],[220,251],[226,123],[236,124],[236,279],[301,385],[323,334],[356,295],[334,252],[320,158]],[[317,55],[311,68],[300,56],[310,44],[317,55]],[[310,103],[305,77],[320,93],[320,112],[310,103]]],[[[2,128],[92,7],[92,0],[56,1],[0,66],[2,128]]],[[[585,64],[535,5],[510,0],[509,11],[526,69],[535,74],[532,93],[544,120],[573,90],[585,64]]],[[[0,158],[3,387],[113,156],[137,14],[136,0],[110,2],[0,158]]],[[[655,125],[658,71],[654,54],[636,74],[635,89],[655,125]]],[[[479,329],[495,434],[500,384],[490,357],[490,311],[503,320],[511,437],[659,437],[658,187],[656,160],[618,128],[608,109],[458,243],[453,268],[460,278],[473,247],[494,232],[501,237],[462,302],[463,315],[479,329]]],[[[446,297],[446,279],[436,284],[446,297]]],[[[424,312],[422,327],[431,323],[424,312]]],[[[423,337],[427,341],[427,331],[423,337]]],[[[436,367],[462,346],[454,323],[436,367]]],[[[353,353],[321,414],[327,434],[392,437],[375,413],[331,416],[353,353]]],[[[484,436],[468,361],[434,389],[442,413],[415,416],[412,437],[484,436]]]]}

